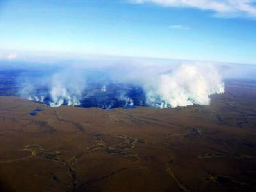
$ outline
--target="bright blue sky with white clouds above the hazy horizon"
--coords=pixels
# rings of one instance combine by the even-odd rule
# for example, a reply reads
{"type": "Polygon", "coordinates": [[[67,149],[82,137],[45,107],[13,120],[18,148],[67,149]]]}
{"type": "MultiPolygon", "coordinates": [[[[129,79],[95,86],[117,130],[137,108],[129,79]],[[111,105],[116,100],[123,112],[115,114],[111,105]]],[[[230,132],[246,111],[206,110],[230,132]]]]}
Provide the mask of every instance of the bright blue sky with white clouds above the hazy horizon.
{"type": "Polygon", "coordinates": [[[0,0],[0,60],[42,54],[256,64],[256,0],[0,0]]]}

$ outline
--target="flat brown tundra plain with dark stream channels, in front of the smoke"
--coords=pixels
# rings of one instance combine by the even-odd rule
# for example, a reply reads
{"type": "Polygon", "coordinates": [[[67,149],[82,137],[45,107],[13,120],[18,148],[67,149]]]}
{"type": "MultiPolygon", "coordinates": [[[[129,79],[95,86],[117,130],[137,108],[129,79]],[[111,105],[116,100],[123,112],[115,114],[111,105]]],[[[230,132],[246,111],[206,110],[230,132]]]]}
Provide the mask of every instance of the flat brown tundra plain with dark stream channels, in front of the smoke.
{"type": "Polygon", "coordinates": [[[47,107],[0,97],[0,188],[11,191],[256,190],[256,82],[210,105],[47,107]]]}

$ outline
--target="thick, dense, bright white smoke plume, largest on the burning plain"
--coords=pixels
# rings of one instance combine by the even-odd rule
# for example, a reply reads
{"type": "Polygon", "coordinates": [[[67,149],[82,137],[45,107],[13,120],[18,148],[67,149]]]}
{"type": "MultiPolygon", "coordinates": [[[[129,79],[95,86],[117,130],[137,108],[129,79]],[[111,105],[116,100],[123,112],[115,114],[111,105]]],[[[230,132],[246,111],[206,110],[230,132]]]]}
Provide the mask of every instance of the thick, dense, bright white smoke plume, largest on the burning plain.
{"type": "Polygon", "coordinates": [[[224,83],[211,65],[183,64],[166,74],[154,76],[143,89],[148,105],[159,108],[208,105],[209,95],[224,93],[224,83]]]}

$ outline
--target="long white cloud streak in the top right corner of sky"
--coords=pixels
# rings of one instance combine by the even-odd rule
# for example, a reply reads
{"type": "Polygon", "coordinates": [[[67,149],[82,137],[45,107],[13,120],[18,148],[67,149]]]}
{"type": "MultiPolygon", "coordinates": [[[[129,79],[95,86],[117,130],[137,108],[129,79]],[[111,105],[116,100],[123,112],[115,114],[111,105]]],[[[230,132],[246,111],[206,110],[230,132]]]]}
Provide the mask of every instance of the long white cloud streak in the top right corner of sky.
{"type": "Polygon", "coordinates": [[[132,0],[132,2],[211,10],[216,16],[221,17],[256,18],[256,0],[132,0]]]}

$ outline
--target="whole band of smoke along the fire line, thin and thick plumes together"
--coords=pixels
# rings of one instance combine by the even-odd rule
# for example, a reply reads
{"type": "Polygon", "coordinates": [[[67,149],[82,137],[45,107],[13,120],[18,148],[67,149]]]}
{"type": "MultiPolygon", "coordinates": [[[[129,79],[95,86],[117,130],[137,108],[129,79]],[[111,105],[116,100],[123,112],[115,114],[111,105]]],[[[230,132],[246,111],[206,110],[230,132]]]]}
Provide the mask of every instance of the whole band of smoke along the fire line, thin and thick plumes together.
{"type": "MultiPolygon", "coordinates": [[[[168,108],[208,105],[211,94],[224,93],[218,67],[206,63],[159,64],[141,61],[116,62],[99,69],[74,65],[47,75],[26,78],[19,95],[50,107],[150,106],[168,108]]],[[[97,65],[98,66],[98,65],[97,65]]]]}

